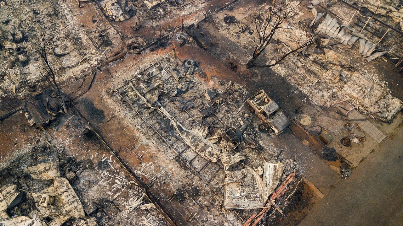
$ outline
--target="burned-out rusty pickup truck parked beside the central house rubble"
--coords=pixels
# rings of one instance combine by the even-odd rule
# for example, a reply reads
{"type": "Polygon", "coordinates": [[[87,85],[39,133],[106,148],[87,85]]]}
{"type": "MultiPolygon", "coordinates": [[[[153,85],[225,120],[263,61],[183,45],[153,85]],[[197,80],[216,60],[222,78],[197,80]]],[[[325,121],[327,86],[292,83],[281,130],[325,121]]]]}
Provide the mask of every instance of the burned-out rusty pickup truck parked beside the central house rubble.
{"type": "Polygon", "coordinates": [[[274,133],[280,134],[291,124],[277,103],[270,99],[264,90],[260,90],[249,97],[246,102],[252,107],[252,111],[262,119],[263,125],[259,126],[260,130],[266,130],[266,127],[270,127],[274,133]]]}

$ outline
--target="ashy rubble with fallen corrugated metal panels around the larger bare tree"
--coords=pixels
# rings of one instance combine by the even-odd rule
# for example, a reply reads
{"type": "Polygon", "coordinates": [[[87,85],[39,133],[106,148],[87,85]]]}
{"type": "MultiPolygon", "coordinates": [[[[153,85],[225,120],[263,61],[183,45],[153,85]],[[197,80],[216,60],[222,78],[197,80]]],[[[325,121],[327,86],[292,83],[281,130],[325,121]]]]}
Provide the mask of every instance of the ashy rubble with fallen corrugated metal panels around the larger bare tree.
{"type": "MultiPolygon", "coordinates": [[[[268,5],[262,5],[260,10],[268,10],[268,7],[268,5]]],[[[335,44],[330,44],[340,42],[350,48],[357,46],[357,54],[366,57],[368,62],[379,58],[386,51],[373,40],[369,40],[364,33],[343,25],[345,21],[340,22],[332,14],[325,15],[318,6],[310,8],[312,10],[308,11],[302,5],[299,6],[300,13],[283,24],[283,27],[292,28],[293,33],[290,33],[289,29],[280,29],[277,33],[277,41],[274,41],[264,50],[256,63],[260,65],[274,63],[289,50],[295,49],[295,46],[298,46],[298,43],[304,37],[301,35],[303,31],[298,27],[301,26],[300,20],[304,16],[308,17],[310,18],[309,22],[312,22],[311,26],[318,25],[318,35],[326,34],[326,37],[319,39],[317,43],[305,49],[301,49],[301,55],[305,55],[305,58],[290,55],[285,61],[272,67],[272,69],[295,87],[298,87],[309,99],[321,107],[328,108],[337,101],[345,99],[369,117],[380,119],[384,122],[393,120],[395,115],[402,109],[402,102],[391,96],[387,88],[385,88],[385,84],[380,82],[380,76],[370,74],[366,71],[365,66],[360,68],[353,66],[351,56],[346,55],[346,52],[338,53],[337,46],[333,47],[335,44]],[[358,78],[357,76],[361,77],[358,78]],[[365,81],[368,84],[367,90],[369,91],[364,91],[362,88],[359,91],[353,88],[362,87],[361,85],[356,86],[357,81],[363,81],[363,83],[365,81]],[[370,91],[372,90],[371,87],[379,90],[377,92],[379,95],[367,100],[361,99],[368,98],[369,95],[364,95],[364,92],[372,92],[370,91]],[[355,92],[361,92],[361,95],[358,97],[355,92]]],[[[245,11],[245,17],[239,19],[237,23],[226,24],[223,21],[220,24],[222,29],[229,30],[229,32],[222,33],[222,35],[243,47],[246,58],[251,57],[254,47],[259,43],[258,34],[253,33],[253,15],[256,14],[253,10],[251,8],[245,11]]],[[[216,21],[218,20],[219,18],[216,18],[216,21]]],[[[401,50],[393,49],[393,52],[396,51],[401,50]]]]}

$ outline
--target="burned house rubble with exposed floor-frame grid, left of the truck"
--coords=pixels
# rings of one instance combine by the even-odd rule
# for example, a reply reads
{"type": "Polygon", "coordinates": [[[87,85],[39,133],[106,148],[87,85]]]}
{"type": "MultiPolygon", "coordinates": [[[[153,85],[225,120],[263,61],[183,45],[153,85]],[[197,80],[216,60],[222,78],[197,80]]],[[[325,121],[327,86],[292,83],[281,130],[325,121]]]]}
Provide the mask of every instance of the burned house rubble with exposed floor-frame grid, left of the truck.
{"type": "Polygon", "coordinates": [[[297,165],[276,163],[280,150],[262,143],[257,126],[262,122],[252,122],[245,112],[241,100],[248,94],[239,84],[211,81],[212,86],[204,86],[193,75],[198,73],[203,72],[194,60],[166,55],[116,89],[114,98],[165,156],[197,172],[199,186],[214,181],[207,185],[218,192],[200,191],[199,205],[221,194],[226,208],[262,208],[285,179],[283,169],[291,173],[297,165]]]}

